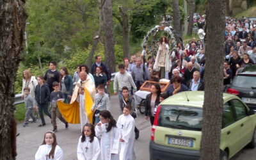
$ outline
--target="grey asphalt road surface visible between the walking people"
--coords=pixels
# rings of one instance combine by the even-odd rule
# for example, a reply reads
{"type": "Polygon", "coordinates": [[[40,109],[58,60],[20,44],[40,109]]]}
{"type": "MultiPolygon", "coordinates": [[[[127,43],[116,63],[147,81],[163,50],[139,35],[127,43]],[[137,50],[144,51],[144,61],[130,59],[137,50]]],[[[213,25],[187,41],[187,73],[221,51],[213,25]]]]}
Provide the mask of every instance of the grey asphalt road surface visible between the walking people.
{"type": "MultiPolygon", "coordinates": [[[[117,120],[120,115],[118,96],[111,97],[111,113],[117,120]]],[[[17,137],[17,152],[18,160],[35,159],[36,150],[42,144],[44,133],[52,130],[51,120],[45,116],[46,125],[37,127],[40,122],[29,124],[29,127],[23,127],[23,124],[17,125],[17,132],[20,135],[17,137]]],[[[65,129],[65,124],[57,120],[58,132],[56,132],[58,145],[63,150],[64,159],[77,159],[76,150],[80,132],[80,124],[70,124],[68,129],[65,129]]],[[[140,138],[135,141],[136,160],[149,159],[148,145],[150,141],[151,125],[149,120],[145,120],[144,116],[138,113],[136,118],[136,127],[140,130],[140,138]]],[[[232,160],[255,160],[256,148],[244,148],[232,157],[232,160]]]]}

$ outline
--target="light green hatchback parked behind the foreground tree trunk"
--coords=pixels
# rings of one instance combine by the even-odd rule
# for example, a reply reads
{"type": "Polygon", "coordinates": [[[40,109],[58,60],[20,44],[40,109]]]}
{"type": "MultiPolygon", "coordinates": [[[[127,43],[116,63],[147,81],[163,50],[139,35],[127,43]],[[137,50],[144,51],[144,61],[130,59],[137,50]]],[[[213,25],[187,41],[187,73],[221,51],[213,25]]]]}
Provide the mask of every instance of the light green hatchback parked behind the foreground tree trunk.
{"type": "MultiPolygon", "coordinates": [[[[199,159],[204,92],[180,92],[157,108],[150,159],[199,159]]],[[[220,159],[230,159],[246,145],[256,145],[256,115],[239,97],[223,93],[220,159]]]]}

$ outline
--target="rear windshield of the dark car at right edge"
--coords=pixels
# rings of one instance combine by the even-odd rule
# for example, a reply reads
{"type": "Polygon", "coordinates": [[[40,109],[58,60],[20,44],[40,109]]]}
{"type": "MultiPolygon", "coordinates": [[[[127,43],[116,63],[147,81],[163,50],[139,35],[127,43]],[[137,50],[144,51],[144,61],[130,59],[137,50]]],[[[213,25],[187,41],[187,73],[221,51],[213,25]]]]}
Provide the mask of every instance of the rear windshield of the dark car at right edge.
{"type": "Polygon", "coordinates": [[[243,88],[255,88],[256,77],[255,76],[236,76],[232,86],[243,87],[243,88]]]}

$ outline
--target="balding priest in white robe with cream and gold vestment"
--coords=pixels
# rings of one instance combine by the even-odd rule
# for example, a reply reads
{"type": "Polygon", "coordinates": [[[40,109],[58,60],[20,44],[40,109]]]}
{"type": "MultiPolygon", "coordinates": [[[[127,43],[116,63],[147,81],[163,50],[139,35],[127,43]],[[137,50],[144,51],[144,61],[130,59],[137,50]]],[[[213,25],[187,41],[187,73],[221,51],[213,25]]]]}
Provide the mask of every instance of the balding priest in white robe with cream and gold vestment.
{"type": "Polygon", "coordinates": [[[90,96],[93,97],[95,95],[95,83],[93,82],[92,77],[87,76],[87,73],[82,71],[79,73],[79,81],[77,81],[77,85],[74,88],[74,92],[72,98],[70,100],[70,104],[72,104],[75,100],[79,102],[79,116],[80,116],[80,124],[81,124],[81,131],[83,131],[83,126],[86,123],[90,123],[88,120],[88,116],[86,114],[86,106],[84,104],[84,88],[88,90],[90,96]],[[80,84],[80,85],[79,85],[80,84]]]}

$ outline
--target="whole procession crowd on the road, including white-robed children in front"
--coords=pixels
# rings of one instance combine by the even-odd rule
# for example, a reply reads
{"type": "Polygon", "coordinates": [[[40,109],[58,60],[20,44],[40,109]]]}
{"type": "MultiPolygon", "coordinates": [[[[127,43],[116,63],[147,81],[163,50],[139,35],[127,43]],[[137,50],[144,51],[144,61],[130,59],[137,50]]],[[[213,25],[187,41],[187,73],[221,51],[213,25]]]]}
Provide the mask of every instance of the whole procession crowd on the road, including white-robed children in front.
{"type": "MultiPolygon", "coordinates": [[[[199,21],[205,17],[200,17],[199,21]]],[[[256,22],[243,19],[227,19],[225,32],[225,63],[223,64],[223,84],[230,84],[239,68],[256,62],[256,22]],[[243,45],[241,45],[241,43],[243,45]]],[[[95,63],[89,70],[86,65],[77,65],[74,76],[70,76],[66,67],[56,70],[56,62],[49,63],[45,76],[32,76],[30,70],[24,70],[22,93],[26,104],[24,127],[37,122],[40,117],[45,125],[44,114],[51,118],[52,131],[45,133],[44,141],[36,152],[36,159],[62,159],[63,152],[57,145],[58,117],[65,128],[68,122],[61,115],[60,102],[80,106],[80,124],[82,135],[77,145],[78,159],[134,159],[134,140],[139,138],[139,129],[135,125],[136,108],[140,105],[140,87],[145,81],[159,82],[170,80],[170,85],[163,92],[158,83],[152,84],[150,92],[145,93],[145,119],[154,124],[157,106],[164,99],[179,92],[204,90],[205,46],[201,40],[192,38],[168,53],[168,40],[165,36],[159,40],[156,56],[137,56],[124,58],[118,65],[118,72],[113,82],[114,94],[120,101],[120,116],[116,122],[110,113],[109,84],[111,72],[100,56],[95,56],[95,63]],[[166,49],[166,51],[164,51],[166,49]],[[169,56],[167,56],[167,54],[169,56]],[[162,58],[167,58],[162,60],[162,58]],[[168,63],[166,63],[168,62],[168,63]],[[163,63],[163,64],[162,64],[163,63]],[[168,64],[168,69],[166,69],[168,64]],[[157,67],[156,67],[157,65],[157,67]],[[160,68],[160,69],[156,69],[160,68]],[[92,97],[93,120],[86,115],[84,95],[92,97]],[[50,112],[48,107],[50,106],[50,112]],[[44,113],[43,113],[44,112],[44,113]]]]}

